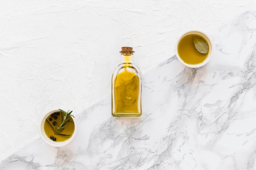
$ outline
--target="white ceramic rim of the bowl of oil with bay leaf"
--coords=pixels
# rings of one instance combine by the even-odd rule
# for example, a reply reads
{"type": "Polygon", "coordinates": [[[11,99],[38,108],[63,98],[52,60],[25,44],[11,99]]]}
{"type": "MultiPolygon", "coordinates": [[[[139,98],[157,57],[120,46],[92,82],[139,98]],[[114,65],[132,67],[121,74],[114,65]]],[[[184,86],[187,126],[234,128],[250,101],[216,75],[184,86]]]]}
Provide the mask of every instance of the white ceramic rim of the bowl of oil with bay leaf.
{"type": "Polygon", "coordinates": [[[185,33],[183,33],[180,38],[178,39],[177,43],[176,43],[176,46],[175,46],[175,53],[176,53],[176,57],[177,59],[182,63],[184,64],[185,66],[187,67],[191,67],[191,68],[198,68],[198,67],[202,67],[204,66],[205,64],[207,64],[210,60],[211,60],[211,57],[213,55],[213,43],[212,43],[212,40],[211,38],[204,32],[202,31],[199,31],[199,30],[191,30],[191,31],[187,31],[185,33]],[[180,58],[180,55],[178,54],[178,44],[180,43],[180,40],[182,38],[184,38],[186,35],[189,35],[189,34],[197,34],[197,35],[200,35],[202,36],[208,43],[209,45],[209,55],[207,56],[207,58],[200,64],[187,64],[185,63],[181,58],[180,58]]]}

